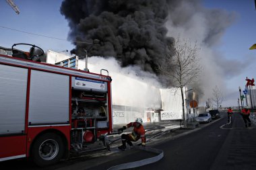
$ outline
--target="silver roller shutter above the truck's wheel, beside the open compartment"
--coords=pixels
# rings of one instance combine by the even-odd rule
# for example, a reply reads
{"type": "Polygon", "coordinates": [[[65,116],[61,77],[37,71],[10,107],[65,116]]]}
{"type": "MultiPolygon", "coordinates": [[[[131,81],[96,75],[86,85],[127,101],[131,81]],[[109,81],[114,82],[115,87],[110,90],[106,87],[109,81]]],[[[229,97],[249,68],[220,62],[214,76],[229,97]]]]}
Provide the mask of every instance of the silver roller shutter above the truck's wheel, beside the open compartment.
{"type": "Polygon", "coordinates": [[[29,126],[69,122],[69,76],[31,71],[29,126]]]}

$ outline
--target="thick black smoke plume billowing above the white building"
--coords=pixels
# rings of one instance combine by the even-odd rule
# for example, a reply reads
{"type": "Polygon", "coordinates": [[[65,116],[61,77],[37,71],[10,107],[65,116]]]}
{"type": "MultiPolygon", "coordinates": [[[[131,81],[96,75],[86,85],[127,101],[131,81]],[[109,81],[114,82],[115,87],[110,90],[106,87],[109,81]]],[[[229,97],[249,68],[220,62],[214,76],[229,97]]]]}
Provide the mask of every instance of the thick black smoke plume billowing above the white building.
{"type": "Polygon", "coordinates": [[[164,26],[168,17],[165,0],[65,0],[61,14],[69,21],[69,39],[75,40],[73,50],[78,56],[92,42],[88,56],[114,56],[122,67],[136,65],[143,71],[156,73],[168,44],[164,26]]]}

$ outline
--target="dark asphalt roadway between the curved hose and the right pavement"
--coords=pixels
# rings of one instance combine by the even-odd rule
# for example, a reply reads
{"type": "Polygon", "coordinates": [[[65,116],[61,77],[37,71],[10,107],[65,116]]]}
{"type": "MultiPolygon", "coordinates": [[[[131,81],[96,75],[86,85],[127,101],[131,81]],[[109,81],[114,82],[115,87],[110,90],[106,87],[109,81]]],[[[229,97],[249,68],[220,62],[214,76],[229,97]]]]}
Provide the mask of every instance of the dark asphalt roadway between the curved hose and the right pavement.
{"type": "Polygon", "coordinates": [[[164,158],[139,169],[211,169],[230,130],[220,128],[226,118],[212,122],[196,132],[157,144],[164,151],[164,158]]]}

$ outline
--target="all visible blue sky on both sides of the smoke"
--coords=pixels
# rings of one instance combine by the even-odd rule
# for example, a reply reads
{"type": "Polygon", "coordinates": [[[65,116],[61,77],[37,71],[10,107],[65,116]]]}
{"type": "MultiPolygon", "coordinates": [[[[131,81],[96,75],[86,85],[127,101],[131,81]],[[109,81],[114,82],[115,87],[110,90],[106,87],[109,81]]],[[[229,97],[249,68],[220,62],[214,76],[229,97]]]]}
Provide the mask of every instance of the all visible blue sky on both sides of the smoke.
{"type": "MultiPolygon", "coordinates": [[[[15,43],[29,43],[40,46],[46,50],[71,50],[74,46],[71,42],[65,41],[69,32],[67,20],[59,12],[61,0],[13,0],[20,9],[17,15],[5,0],[0,0],[0,46],[11,47],[15,43]],[[41,34],[61,38],[55,40],[15,32],[2,28],[13,28],[24,32],[41,34]]],[[[228,92],[224,96],[223,105],[236,105],[238,86],[245,87],[245,78],[256,78],[256,50],[249,50],[252,44],[256,43],[256,10],[254,0],[203,0],[203,6],[210,9],[224,9],[234,12],[236,19],[226,29],[215,50],[224,58],[243,62],[248,60],[249,67],[243,69],[234,77],[226,79],[228,92]]],[[[229,63],[226,63],[228,65],[229,63]]]]}

